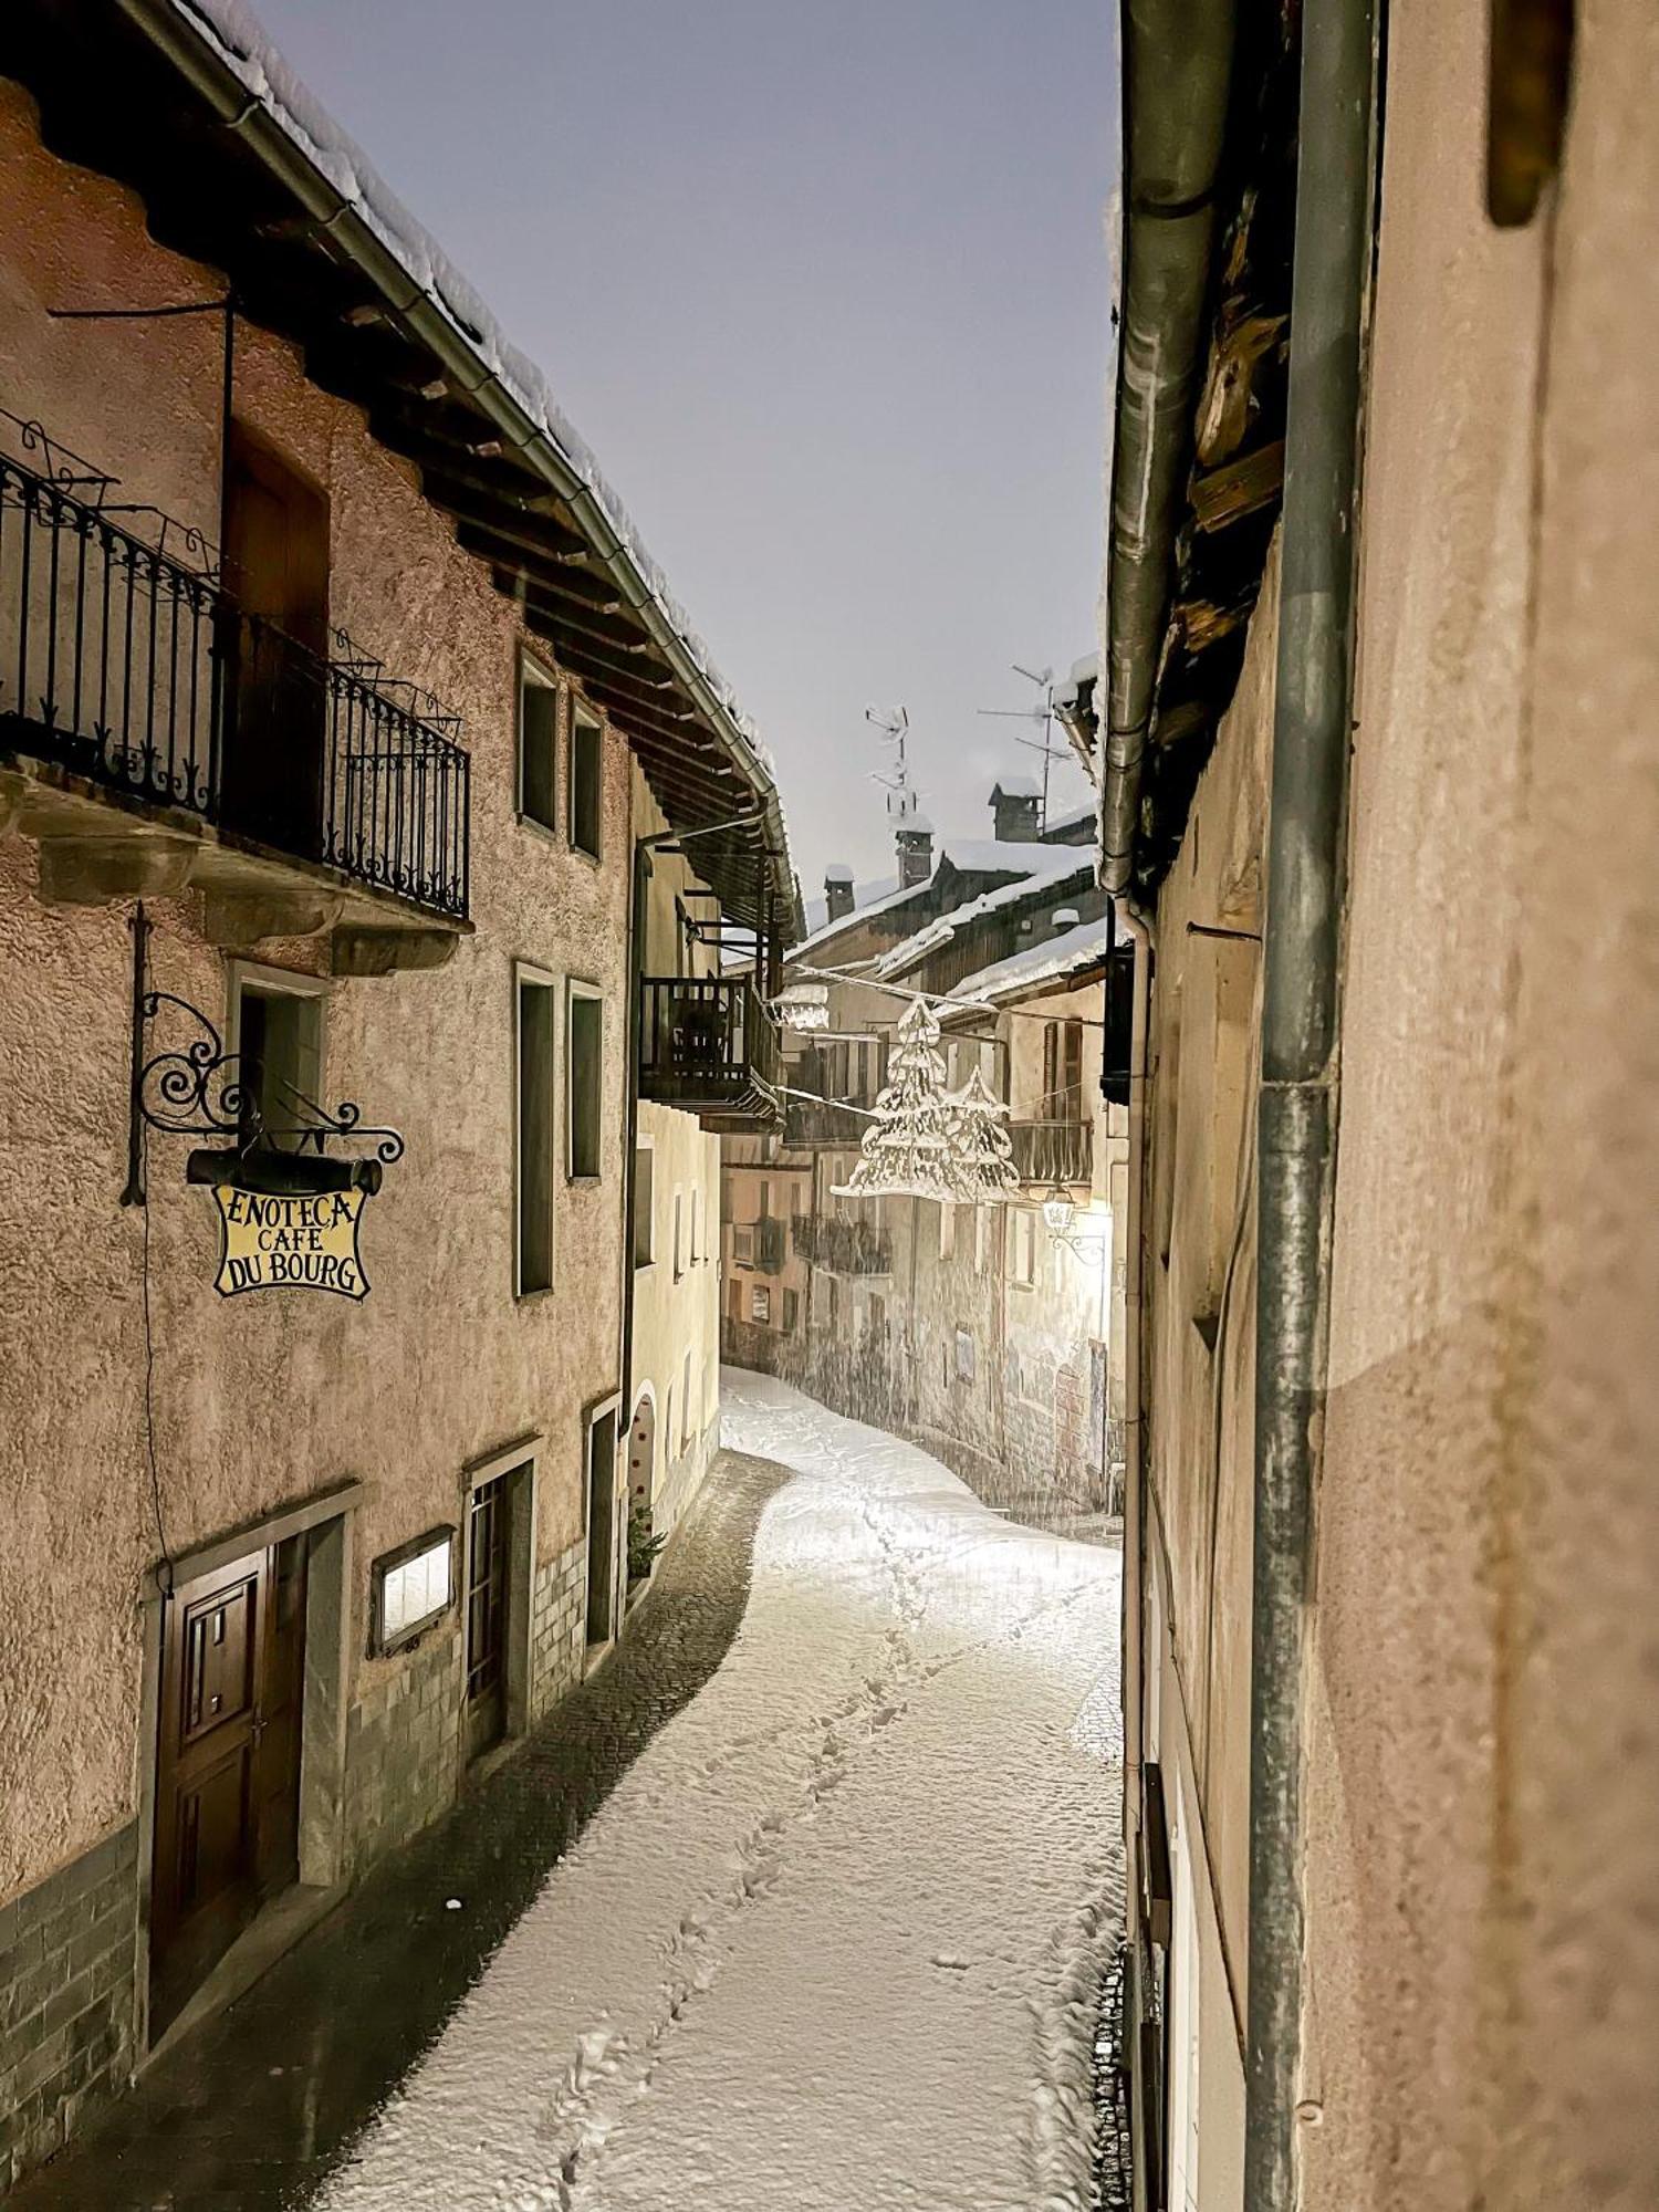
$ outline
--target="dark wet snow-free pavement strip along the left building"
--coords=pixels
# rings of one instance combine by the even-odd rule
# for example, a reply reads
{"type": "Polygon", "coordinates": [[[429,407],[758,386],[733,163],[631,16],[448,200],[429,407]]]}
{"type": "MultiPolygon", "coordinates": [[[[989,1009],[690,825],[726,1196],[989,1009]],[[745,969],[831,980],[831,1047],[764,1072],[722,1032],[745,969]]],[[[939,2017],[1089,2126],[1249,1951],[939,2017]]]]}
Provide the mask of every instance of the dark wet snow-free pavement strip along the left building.
{"type": "Polygon", "coordinates": [[[546,1871],[719,1668],[787,1480],[723,1451],[611,1661],[243,2000],[166,2053],[7,2212],[279,2212],[349,2152],[546,1871]],[[449,1911],[447,1898],[462,1909],[449,1911]]]}

